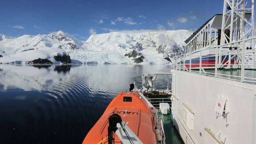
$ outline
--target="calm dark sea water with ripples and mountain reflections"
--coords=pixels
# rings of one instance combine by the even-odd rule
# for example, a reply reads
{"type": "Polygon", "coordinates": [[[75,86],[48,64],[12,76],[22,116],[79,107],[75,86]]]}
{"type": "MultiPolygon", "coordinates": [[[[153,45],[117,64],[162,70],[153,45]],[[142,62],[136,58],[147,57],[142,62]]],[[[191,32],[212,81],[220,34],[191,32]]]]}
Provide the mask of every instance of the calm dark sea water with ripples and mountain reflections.
{"type": "Polygon", "coordinates": [[[1,144],[80,144],[111,100],[171,65],[0,65],[1,144]]]}

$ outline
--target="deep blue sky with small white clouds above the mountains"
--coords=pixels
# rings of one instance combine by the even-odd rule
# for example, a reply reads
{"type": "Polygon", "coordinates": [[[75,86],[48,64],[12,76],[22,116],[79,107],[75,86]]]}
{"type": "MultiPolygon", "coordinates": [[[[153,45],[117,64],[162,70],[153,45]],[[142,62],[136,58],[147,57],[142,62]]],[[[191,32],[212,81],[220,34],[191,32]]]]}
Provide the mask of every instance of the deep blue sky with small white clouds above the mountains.
{"type": "Polygon", "coordinates": [[[222,9],[223,0],[0,0],[0,34],[197,30],[222,9]]]}

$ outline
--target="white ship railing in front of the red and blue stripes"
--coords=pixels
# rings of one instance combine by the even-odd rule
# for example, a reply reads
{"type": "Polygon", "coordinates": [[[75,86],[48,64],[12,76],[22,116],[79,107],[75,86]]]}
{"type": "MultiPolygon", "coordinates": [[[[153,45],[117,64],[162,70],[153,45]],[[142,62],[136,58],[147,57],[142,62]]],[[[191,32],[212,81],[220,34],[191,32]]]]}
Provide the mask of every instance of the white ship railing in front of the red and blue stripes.
{"type": "MultiPolygon", "coordinates": [[[[217,47],[214,46],[210,48],[204,48],[204,49],[202,48],[196,51],[198,55],[195,55],[195,52],[188,52],[186,54],[176,55],[174,56],[174,70],[186,71],[190,73],[207,75],[207,76],[212,76],[216,78],[224,78],[228,80],[235,80],[239,82],[256,84],[256,72],[254,71],[256,70],[256,58],[255,58],[256,48],[252,48],[252,50],[246,50],[246,46],[245,46],[246,42],[254,39],[256,39],[256,37],[247,38],[244,40],[238,40],[236,42],[230,42],[228,44],[222,44],[217,47]],[[230,52],[227,52],[226,54],[220,53],[221,47],[231,45],[231,44],[236,45],[240,42],[242,42],[242,48],[238,48],[237,50],[234,50],[234,48],[232,48],[232,50],[230,50],[230,52]],[[210,56],[204,56],[202,55],[202,53],[205,50],[208,50],[208,51],[215,50],[215,54],[212,54],[210,56]],[[231,57],[231,55],[233,58],[231,57]],[[210,58],[215,56],[215,59],[214,59],[215,63],[210,63],[210,64],[202,63],[202,56],[203,58],[210,58]],[[237,58],[236,60],[239,60],[239,61],[235,61],[234,64],[230,64],[230,62],[223,63],[221,60],[218,61],[219,57],[220,58],[229,57],[229,59],[231,58],[235,60],[234,56],[236,56],[237,58]],[[199,60],[199,63],[193,64],[192,61],[194,58],[197,58],[197,60],[199,60]],[[251,62],[247,62],[246,58],[249,58],[251,62]],[[186,60],[189,61],[189,66],[187,67],[185,66],[186,60]],[[236,73],[237,75],[232,75],[231,71],[229,72],[229,74],[224,74],[223,72],[220,72],[220,69],[225,69],[226,67],[230,67],[231,70],[238,69],[240,70],[240,72],[237,72],[236,73]],[[249,72],[249,73],[252,73],[252,75],[245,74],[245,70],[253,70],[249,72]]],[[[227,51],[229,50],[229,48],[226,48],[226,49],[227,51]]],[[[186,63],[186,65],[188,65],[188,63],[186,63]]]]}

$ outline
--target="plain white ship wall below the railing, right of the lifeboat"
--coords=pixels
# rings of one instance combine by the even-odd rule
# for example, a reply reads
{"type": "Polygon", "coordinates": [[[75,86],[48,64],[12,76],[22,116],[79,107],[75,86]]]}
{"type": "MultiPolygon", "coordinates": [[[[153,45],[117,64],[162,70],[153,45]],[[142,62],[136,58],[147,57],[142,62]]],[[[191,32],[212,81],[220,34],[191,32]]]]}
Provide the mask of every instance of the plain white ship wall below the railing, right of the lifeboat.
{"type": "Polygon", "coordinates": [[[178,70],[172,72],[172,92],[176,97],[172,103],[172,114],[174,125],[185,144],[216,144],[204,127],[210,128],[214,135],[220,132],[217,135],[219,139],[226,136],[226,140],[222,140],[224,144],[256,144],[256,85],[178,70]],[[212,105],[216,104],[218,95],[228,98],[226,104],[230,112],[225,119],[224,116],[216,116],[215,105],[212,105]]]}

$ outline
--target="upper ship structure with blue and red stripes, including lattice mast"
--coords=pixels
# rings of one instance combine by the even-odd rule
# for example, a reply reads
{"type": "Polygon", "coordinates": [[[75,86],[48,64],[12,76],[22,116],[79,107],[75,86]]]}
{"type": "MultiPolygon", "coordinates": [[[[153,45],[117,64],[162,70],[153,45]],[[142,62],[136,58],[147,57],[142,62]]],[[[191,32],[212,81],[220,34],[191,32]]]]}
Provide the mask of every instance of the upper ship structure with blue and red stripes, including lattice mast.
{"type": "MultiPolygon", "coordinates": [[[[242,64],[242,40],[252,37],[254,2],[224,0],[223,14],[216,14],[210,18],[185,41],[186,54],[180,55],[183,57],[180,64],[184,63],[185,68],[191,69],[209,69],[214,68],[216,64],[218,68],[239,68],[234,64],[242,64]],[[218,56],[215,57],[215,54],[218,56]]],[[[245,40],[244,44],[247,48],[245,54],[253,59],[254,65],[254,40],[245,40]]]]}

